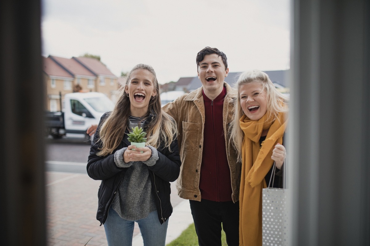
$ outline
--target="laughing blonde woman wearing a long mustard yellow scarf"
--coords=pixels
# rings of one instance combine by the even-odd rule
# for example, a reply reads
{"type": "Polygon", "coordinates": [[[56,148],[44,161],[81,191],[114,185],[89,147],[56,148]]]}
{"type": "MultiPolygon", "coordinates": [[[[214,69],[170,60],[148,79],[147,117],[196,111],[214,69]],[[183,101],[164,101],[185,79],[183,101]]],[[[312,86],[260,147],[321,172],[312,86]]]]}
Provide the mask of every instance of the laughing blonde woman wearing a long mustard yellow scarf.
{"type": "MultiPolygon", "coordinates": [[[[286,156],[283,135],[289,99],[279,93],[268,75],[260,70],[242,73],[236,89],[238,97],[230,141],[242,161],[239,245],[260,246],[262,188],[267,187],[273,163],[278,170],[283,167],[286,156]]],[[[276,186],[275,183],[273,187],[276,186]]]]}

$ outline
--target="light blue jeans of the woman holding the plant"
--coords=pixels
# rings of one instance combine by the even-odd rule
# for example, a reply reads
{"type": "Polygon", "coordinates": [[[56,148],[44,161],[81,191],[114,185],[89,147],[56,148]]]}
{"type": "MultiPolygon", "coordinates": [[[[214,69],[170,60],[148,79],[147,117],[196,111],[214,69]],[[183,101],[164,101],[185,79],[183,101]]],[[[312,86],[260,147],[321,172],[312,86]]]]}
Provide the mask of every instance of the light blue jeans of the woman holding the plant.
{"type": "Polygon", "coordinates": [[[122,219],[112,207],[104,223],[105,235],[109,246],[131,246],[134,223],[137,222],[145,246],[165,246],[168,220],[161,225],[157,211],[149,213],[144,219],[128,221],[122,219]]]}

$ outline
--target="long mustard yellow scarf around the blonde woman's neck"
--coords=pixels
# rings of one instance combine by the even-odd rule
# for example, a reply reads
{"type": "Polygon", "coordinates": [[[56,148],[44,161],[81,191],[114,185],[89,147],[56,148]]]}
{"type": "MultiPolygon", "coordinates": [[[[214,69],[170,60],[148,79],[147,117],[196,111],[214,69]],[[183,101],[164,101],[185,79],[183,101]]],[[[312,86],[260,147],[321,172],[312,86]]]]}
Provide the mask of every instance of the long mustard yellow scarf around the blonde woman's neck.
{"type": "Polygon", "coordinates": [[[266,187],[265,176],[273,164],[272,150],[276,143],[283,143],[286,116],[280,113],[273,122],[266,114],[257,121],[250,120],[246,115],[240,118],[240,127],[244,132],[239,195],[240,246],[262,245],[262,188],[266,187]],[[269,129],[266,139],[260,146],[259,139],[266,129],[269,129]]]}

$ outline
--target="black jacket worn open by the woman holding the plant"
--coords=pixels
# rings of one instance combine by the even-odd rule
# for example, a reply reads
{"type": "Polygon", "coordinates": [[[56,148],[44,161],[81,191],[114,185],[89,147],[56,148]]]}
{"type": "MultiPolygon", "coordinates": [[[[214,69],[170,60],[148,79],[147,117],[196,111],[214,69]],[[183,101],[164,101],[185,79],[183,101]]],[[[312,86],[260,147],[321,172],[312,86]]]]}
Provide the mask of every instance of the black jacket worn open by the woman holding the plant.
{"type": "MultiPolygon", "coordinates": [[[[127,134],[120,145],[113,151],[111,155],[97,156],[98,148],[101,142],[97,142],[99,138],[99,127],[101,123],[108,117],[109,113],[105,113],[99,122],[97,131],[90,148],[90,155],[87,163],[87,173],[94,180],[101,180],[98,191],[98,212],[96,218],[104,224],[108,217],[108,210],[117,193],[127,168],[117,167],[114,163],[114,153],[127,147],[130,143],[127,141],[127,134]]],[[[149,115],[147,121],[152,120],[154,115],[149,115]]],[[[163,224],[172,214],[172,205],[170,201],[171,185],[169,182],[175,181],[180,173],[181,160],[179,156],[179,148],[177,138],[171,143],[171,151],[168,148],[157,148],[159,159],[154,166],[148,166],[149,177],[152,182],[152,192],[155,197],[155,205],[157,207],[158,219],[163,224]]]]}

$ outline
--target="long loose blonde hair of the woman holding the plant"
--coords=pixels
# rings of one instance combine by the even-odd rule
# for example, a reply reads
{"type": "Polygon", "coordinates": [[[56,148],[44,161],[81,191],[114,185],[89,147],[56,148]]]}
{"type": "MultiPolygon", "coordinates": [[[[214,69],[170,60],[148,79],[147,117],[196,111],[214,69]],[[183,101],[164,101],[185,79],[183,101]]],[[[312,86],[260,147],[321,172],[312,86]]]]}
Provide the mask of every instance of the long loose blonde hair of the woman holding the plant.
{"type": "Polygon", "coordinates": [[[150,65],[138,64],[132,68],[131,72],[125,77],[126,83],[125,86],[120,89],[121,91],[117,104],[99,129],[100,138],[98,141],[101,141],[102,145],[100,151],[97,153],[98,156],[110,155],[124,138],[130,114],[130,100],[124,87],[128,86],[132,72],[137,69],[146,69],[152,73],[154,91],[156,93],[156,96],[154,99],[150,99],[148,105],[148,115],[153,114],[154,117],[149,119],[146,125],[147,145],[159,148],[161,143],[163,143],[164,147],[170,148],[172,141],[176,138],[177,127],[175,121],[161,109],[159,83],[154,69],[150,65]]]}

